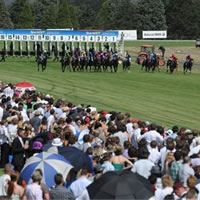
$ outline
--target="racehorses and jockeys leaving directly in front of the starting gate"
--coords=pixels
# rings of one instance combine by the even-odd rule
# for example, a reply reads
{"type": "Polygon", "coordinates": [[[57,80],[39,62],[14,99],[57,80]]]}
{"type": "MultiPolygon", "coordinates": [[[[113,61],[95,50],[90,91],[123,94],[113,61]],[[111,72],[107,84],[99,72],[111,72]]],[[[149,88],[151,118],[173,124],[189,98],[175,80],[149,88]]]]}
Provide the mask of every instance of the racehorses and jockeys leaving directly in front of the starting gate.
{"type": "MultiPolygon", "coordinates": [[[[40,66],[42,71],[46,69],[47,66],[48,54],[43,53],[40,56],[37,56],[36,62],[38,66],[38,71],[40,70],[40,66]]],[[[55,59],[54,59],[55,60],[55,59]]],[[[62,72],[65,72],[65,69],[69,69],[69,71],[94,71],[94,72],[106,72],[110,69],[111,72],[118,71],[118,63],[121,60],[120,57],[111,58],[111,56],[102,57],[100,54],[94,54],[91,57],[87,56],[75,56],[73,55],[65,55],[60,59],[62,72]]],[[[123,60],[123,70],[130,71],[131,63],[128,60],[123,60]]]]}

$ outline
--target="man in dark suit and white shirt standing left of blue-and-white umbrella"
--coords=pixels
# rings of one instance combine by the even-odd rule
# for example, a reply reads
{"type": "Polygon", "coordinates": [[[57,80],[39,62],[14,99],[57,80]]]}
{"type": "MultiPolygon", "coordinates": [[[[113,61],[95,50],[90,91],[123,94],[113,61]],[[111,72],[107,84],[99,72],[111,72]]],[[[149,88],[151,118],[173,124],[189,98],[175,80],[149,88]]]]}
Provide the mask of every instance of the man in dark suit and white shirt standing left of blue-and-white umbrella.
{"type": "Polygon", "coordinates": [[[12,152],[13,152],[13,160],[12,164],[15,167],[15,170],[20,172],[25,163],[25,151],[28,149],[29,145],[24,144],[25,130],[23,128],[18,128],[17,137],[14,139],[12,143],[12,152]]]}

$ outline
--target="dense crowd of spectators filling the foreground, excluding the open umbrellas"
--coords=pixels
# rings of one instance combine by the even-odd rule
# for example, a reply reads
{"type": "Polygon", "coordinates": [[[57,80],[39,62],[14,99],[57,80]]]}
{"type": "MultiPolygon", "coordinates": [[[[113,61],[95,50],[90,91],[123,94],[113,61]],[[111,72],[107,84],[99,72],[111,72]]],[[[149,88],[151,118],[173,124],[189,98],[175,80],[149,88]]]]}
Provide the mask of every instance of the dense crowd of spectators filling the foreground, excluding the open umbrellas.
{"type": "Polygon", "coordinates": [[[91,105],[73,105],[36,91],[18,92],[14,85],[1,83],[0,147],[4,199],[81,199],[101,174],[125,169],[148,179],[156,200],[200,199],[198,130],[166,128],[129,113],[98,112],[91,105]],[[58,153],[58,146],[83,151],[93,168],[81,169],[67,187],[66,177],[56,174],[55,187],[47,189],[40,170],[32,174],[32,183],[20,181],[29,157],[42,151],[58,153]]]}

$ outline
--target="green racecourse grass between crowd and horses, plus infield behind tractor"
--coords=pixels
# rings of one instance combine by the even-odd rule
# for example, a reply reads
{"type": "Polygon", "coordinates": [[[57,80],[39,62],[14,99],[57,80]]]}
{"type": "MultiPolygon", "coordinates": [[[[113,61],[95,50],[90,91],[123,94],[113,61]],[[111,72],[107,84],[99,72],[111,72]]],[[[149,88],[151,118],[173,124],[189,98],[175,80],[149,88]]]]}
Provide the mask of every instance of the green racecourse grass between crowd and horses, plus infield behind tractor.
{"type": "MultiPolygon", "coordinates": [[[[134,57],[141,44],[151,43],[163,44],[167,55],[175,51],[184,59],[186,52],[192,51],[198,57],[199,50],[194,48],[193,41],[137,41],[125,45],[134,57]]],[[[176,124],[200,129],[200,69],[197,65],[193,73],[187,75],[181,70],[178,74],[167,74],[165,68],[160,73],[146,73],[136,64],[132,64],[130,73],[123,72],[121,66],[118,73],[62,73],[60,63],[49,60],[47,70],[42,73],[37,71],[34,58],[8,58],[6,63],[0,63],[0,80],[28,81],[38,91],[55,98],[65,98],[74,104],[90,104],[98,110],[129,112],[134,118],[168,128],[176,124]]]]}

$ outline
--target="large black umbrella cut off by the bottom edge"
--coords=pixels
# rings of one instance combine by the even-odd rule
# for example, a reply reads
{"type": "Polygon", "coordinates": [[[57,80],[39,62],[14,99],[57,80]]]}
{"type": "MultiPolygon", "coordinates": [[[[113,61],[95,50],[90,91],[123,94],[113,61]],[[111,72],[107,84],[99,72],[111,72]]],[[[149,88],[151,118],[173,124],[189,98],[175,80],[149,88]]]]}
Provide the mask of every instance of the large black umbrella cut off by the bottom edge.
{"type": "Polygon", "coordinates": [[[129,170],[107,172],[87,190],[90,199],[149,199],[153,196],[149,181],[129,170]]]}

